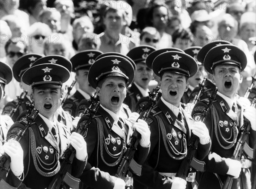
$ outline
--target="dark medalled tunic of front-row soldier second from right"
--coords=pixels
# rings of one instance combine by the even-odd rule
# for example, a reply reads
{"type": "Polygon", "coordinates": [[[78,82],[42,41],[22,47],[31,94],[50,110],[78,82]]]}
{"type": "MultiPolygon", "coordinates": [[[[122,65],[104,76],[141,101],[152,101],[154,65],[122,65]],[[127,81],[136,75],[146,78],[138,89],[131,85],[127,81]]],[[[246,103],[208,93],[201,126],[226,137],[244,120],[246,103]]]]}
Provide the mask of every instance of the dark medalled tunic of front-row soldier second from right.
{"type": "MultiPolygon", "coordinates": [[[[184,157],[186,157],[187,146],[191,136],[189,125],[194,123],[192,117],[181,109],[182,122],[160,99],[150,115],[146,119],[150,126],[151,148],[147,161],[143,164],[141,177],[135,176],[139,183],[136,189],[170,189],[172,180],[166,174],[178,171],[184,157]],[[140,184],[144,186],[139,186],[140,184]]],[[[199,143],[197,158],[202,160],[209,152],[210,143],[201,145],[199,143]]],[[[189,182],[187,187],[189,186],[189,182]]]]}

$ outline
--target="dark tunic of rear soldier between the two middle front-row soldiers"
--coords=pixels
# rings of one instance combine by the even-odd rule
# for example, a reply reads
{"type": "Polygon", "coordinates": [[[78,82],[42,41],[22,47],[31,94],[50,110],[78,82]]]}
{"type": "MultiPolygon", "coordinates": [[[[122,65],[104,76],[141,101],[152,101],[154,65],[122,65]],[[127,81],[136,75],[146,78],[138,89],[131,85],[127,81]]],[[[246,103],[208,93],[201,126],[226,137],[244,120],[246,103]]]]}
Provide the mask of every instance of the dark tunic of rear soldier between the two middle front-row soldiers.
{"type": "Polygon", "coordinates": [[[140,90],[134,83],[132,83],[131,87],[128,89],[124,103],[129,106],[131,112],[135,112],[136,103],[140,100],[141,97],[143,97],[143,95],[141,94],[140,90]]]}

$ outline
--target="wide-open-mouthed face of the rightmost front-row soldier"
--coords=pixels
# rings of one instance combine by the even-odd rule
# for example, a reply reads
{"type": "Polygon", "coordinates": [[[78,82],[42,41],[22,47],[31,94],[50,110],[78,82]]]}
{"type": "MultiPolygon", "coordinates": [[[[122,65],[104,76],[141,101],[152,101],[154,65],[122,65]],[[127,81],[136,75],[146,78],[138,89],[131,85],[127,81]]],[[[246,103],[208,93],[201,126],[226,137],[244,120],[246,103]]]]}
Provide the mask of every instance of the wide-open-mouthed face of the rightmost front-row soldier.
{"type": "Polygon", "coordinates": [[[235,97],[239,84],[243,80],[237,66],[218,65],[213,70],[213,76],[212,81],[218,87],[218,92],[230,98],[235,97]]]}

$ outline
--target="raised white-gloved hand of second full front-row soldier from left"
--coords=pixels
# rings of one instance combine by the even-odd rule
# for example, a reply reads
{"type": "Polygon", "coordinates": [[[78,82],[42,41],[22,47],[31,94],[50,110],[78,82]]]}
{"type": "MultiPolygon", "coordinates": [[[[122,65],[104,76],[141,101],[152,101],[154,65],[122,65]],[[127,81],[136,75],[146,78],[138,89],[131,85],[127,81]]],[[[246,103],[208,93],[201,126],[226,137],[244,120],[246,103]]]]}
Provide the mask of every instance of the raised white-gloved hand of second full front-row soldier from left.
{"type": "Polygon", "coordinates": [[[139,119],[138,122],[134,123],[134,129],[141,135],[140,146],[147,148],[150,145],[150,130],[148,128],[148,123],[139,119]]]}

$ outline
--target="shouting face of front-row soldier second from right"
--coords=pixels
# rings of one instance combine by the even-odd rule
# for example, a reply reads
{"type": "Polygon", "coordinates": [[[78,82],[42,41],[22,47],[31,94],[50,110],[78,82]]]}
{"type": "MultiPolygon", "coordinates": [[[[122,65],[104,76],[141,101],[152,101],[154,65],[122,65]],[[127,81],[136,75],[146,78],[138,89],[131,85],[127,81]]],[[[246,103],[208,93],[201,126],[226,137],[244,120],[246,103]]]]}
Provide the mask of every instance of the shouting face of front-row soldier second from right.
{"type": "Polygon", "coordinates": [[[163,99],[175,106],[179,106],[181,97],[188,87],[189,83],[186,82],[186,77],[174,72],[165,72],[160,81],[163,99]]]}

